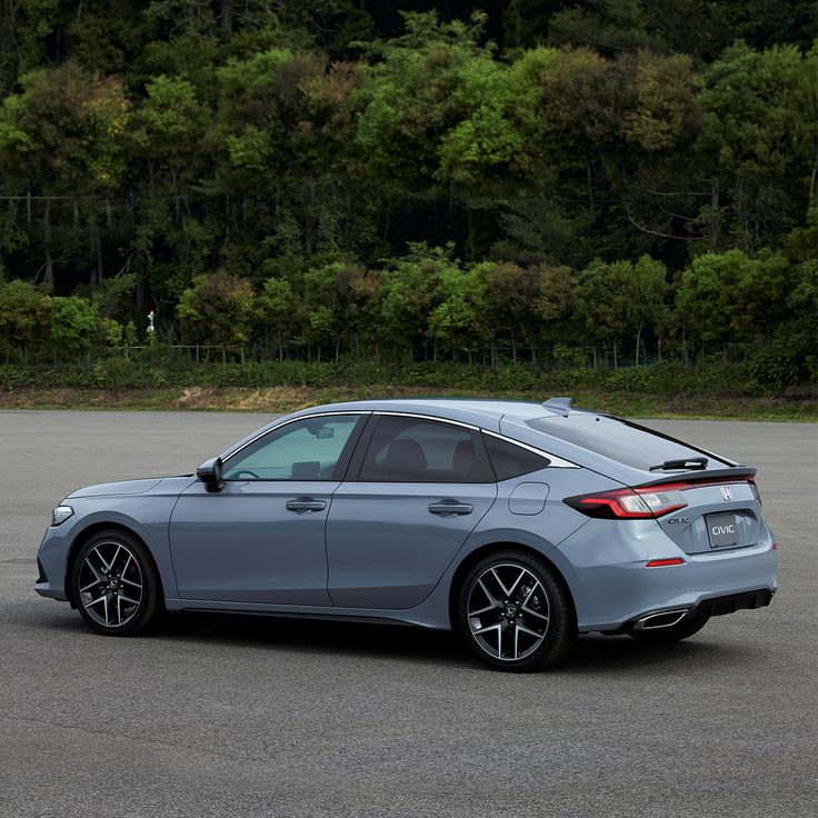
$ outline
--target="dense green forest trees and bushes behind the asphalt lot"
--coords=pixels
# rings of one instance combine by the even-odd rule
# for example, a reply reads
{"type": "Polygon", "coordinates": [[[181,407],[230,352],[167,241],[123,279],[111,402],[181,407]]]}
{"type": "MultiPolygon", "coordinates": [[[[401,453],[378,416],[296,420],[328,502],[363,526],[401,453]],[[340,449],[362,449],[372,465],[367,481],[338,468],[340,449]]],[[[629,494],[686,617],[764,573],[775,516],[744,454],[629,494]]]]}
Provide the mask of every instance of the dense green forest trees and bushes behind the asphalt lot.
{"type": "Polygon", "coordinates": [[[815,23],[809,0],[6,3],[0,353],[815,377],[815,23]]]}

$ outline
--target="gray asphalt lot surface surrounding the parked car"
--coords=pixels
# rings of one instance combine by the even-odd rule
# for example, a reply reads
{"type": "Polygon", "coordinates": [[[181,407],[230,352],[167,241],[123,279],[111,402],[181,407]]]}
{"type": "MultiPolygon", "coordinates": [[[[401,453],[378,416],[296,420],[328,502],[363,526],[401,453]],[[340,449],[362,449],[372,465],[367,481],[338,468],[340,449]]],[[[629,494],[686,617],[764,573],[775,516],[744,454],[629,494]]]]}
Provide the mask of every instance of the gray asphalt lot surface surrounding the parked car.
{"type": "Polygon", "coordinates": [[[77,486],[192,471],[272,416],[0,412],[1,816],[815,816],[818,426],[654,421],[756,465],[771,607],[668,648],[483,670],[449,634],[177,617],[92,635],[33,592],[77,486]]]}

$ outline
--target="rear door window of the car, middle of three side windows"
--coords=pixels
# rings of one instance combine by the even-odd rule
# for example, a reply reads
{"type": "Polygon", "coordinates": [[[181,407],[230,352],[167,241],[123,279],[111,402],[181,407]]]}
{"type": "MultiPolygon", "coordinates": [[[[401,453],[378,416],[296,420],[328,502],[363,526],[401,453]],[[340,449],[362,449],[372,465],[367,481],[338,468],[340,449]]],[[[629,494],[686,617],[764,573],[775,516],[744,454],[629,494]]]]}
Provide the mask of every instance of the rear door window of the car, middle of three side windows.
{"type": "Polygon", "coordinates": [[[493,482],[470,429],[419,418],[378,419],[360,472],[380,482],[493,482]]]}

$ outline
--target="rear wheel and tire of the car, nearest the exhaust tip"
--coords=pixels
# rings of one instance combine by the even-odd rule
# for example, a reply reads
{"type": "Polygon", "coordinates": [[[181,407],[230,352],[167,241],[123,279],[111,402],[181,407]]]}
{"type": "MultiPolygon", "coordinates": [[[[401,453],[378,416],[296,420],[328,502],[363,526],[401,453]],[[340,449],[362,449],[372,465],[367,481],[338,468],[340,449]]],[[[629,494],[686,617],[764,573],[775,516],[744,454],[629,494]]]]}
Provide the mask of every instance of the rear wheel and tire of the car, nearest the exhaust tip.
{"type": "Polygon", "coordinates": [[[577,640],[568,590],[545,560],[525,551],[480,560],[462,582],[457,610],[469,649],[496,670],[552,667],[577,640]]]}

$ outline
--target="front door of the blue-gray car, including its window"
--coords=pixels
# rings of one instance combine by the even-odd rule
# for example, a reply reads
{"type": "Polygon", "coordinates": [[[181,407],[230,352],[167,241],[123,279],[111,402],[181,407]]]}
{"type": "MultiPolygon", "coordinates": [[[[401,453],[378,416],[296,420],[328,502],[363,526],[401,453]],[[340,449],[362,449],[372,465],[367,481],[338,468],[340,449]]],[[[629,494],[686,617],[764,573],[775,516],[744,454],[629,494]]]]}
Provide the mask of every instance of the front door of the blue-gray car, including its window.
{"type": "Polygon", "coordinates": [[[330,605],[325,529],[362,423],[356,413],[277,427],[225,462],[225,486],[194,482],[173,509],[182,599],[330,605]]]}

